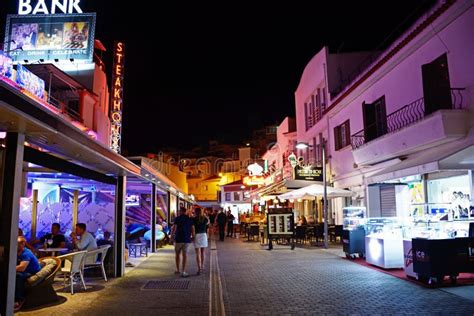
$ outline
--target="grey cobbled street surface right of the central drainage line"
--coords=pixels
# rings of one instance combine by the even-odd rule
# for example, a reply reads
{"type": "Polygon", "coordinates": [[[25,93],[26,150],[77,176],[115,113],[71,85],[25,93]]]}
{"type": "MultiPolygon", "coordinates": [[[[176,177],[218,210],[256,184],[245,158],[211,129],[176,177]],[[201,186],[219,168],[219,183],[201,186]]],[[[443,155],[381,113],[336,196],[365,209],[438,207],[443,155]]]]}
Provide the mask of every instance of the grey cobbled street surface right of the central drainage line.
{"type": "Polygon", "coordinates": [[[228,315],[474,314],[474,301],[322,249],[268,251],[256,242],[228,239],[217,249],[228,315]]]}

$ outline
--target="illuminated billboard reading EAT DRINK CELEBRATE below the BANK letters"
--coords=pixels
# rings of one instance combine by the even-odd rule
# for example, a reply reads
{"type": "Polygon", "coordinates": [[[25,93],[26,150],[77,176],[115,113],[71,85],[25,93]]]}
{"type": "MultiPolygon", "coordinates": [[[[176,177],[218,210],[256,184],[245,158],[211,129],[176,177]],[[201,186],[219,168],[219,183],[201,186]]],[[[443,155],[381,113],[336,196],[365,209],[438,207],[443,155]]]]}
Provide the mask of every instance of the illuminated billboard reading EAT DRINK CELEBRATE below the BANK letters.
{"type": "Polygon", "coordinates": [[[9,15],[5,50],[14,63],[91,63],[95,13],[9,15]]]}

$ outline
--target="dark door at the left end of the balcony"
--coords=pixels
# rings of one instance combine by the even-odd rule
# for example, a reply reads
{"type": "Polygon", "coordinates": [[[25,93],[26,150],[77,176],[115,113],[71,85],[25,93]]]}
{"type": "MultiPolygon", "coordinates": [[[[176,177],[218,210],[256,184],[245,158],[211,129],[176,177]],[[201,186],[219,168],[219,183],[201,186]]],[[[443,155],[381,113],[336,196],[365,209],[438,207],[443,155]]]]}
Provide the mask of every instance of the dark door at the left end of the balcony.
{"type": "Polygon", "coordinates": [[[387,133],[387,112],[385,110],[385,96],[374,103],[363,103],[364,137],[369,142],[387,133]]]}

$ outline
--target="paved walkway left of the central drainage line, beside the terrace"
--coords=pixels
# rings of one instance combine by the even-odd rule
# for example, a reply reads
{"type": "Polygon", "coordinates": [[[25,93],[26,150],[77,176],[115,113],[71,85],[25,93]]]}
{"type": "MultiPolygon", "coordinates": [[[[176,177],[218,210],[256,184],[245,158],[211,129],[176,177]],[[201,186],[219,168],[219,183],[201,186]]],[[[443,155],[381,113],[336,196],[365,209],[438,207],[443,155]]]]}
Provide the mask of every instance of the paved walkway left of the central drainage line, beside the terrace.
{"type": "Polygon", "coordinates": [[[209,315],[209,273],[196,275],[194,250],[189,252],[188,265],[189,278],[175,276],[174,249],[167,246],[123,278],[107,283],[89,280],[86,292],[77,285],[77,293],[70,295],[62,290],[59,282],[60,304],[19,315],[209,315]],[[189,288],[144,290],[144,285],[151,280],[189,281],[189,288]]]}

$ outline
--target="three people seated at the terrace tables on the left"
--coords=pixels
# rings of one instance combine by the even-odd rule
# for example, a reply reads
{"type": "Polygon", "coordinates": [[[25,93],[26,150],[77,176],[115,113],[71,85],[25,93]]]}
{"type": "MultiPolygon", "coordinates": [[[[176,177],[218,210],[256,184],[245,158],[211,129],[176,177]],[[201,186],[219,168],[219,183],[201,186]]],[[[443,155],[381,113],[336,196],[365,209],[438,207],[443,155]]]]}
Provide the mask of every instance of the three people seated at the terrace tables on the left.
{"type": "MultiPolygon", "coordinates": [[[[87,231],[86,224],[79,223],[71,233],[72,248],[76,250],[97,249],[97,242],[94,236],[87,231]]],[[[26,280],[41,270],[41,265],[36,257],[36,245],[43,244],[49,248],[66,248],[66,237],[61,234],[61,225],[53,223],[51,232],[45,234],[40,239],[26,240],[23,231],[18,229],[18,250],[16,266],[15,285],[15,311],[18,311],[25,302],[25,282],[26,280]]]]}

